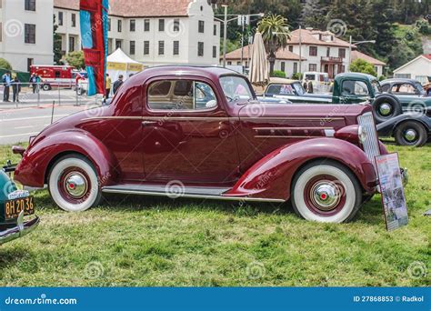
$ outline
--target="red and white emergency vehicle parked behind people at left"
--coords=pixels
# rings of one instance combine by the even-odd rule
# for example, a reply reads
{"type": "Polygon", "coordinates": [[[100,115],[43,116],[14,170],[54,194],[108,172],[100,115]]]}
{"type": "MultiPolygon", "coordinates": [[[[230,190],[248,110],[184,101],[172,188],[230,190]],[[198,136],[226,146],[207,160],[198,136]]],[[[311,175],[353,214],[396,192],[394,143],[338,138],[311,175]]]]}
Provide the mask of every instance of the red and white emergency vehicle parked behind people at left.
{"type": "Polygon", "coordinates": [[[85,79],[80,72],[71,65],[32,65],[30,74],[39,75],[42,89],[49,91],[53,87],[75,88],[79,80],[85,79]]]}

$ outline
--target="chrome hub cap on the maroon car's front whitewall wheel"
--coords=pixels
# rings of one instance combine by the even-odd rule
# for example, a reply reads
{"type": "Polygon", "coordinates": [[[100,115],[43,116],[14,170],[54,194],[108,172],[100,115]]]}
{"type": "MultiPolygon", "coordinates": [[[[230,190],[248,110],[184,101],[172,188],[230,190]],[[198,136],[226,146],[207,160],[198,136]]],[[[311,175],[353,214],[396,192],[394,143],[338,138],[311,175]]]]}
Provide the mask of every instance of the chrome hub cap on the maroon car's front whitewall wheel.
{"type": "Polygon", "coordinates": [[[319,209],[330,211],[340,202],[341,194],[334,183],[323,181],[313,186],[311,189],[311,199],[319,209]]]}

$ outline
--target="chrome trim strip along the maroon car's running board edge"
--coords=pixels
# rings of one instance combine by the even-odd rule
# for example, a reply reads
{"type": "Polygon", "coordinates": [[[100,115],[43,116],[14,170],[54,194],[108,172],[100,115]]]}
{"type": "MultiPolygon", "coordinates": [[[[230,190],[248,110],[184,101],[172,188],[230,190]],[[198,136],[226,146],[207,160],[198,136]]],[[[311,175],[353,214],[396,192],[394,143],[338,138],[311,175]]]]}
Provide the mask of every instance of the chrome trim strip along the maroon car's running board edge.
{"type": "MultiPolygon", "coordinates": [[[[140,196],[167,196],[165,192],[138,191],[138,190],[117,190],[102,188],[102,192],[109,194],[140,195],[140,196]]],[[[205,196],[205,195],[181,195],[178,197],[187,198],[205,198],[210,200],[228,200],[228,201],[255,201],[255,202],[286,202],[283,199],[266,199],[260,197],[241,197],[241,196],[205,196]]]]}

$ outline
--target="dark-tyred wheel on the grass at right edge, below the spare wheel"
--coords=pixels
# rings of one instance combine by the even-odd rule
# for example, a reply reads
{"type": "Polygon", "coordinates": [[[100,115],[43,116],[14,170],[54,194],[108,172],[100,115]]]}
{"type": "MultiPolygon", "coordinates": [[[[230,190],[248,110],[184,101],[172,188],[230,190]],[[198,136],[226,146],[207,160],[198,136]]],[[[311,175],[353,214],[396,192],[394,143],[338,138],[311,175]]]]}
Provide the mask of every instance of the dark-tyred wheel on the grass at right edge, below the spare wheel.
{"type": "Polygon", "coordinates": [[[394,136],[396,145],[422,146],[428,139],[426,128],[416,121],[407,121],[396,126],[394,136]]]}

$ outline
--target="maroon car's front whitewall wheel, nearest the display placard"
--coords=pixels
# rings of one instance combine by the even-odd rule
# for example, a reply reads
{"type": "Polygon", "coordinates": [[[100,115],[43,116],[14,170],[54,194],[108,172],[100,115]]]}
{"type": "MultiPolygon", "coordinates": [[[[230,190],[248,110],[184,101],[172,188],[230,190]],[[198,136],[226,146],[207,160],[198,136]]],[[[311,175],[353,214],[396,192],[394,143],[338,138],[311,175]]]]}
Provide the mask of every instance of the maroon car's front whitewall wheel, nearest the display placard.
{"type": "Polygon", "coordinates": [[[362,203],[362,187],[356,176],[334,161],[314,162],[301,168],[291,194],[296,214],[317,222],[347,222],[362,203]]]}

